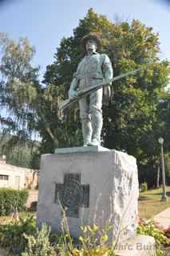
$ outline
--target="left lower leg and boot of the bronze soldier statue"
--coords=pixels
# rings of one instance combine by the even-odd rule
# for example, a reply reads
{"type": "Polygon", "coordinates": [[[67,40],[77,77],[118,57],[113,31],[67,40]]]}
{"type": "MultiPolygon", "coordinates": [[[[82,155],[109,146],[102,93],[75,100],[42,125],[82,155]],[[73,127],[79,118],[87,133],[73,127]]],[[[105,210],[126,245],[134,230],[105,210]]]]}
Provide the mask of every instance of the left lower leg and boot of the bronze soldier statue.
{"type": "Polygon", "coordinates": [[[83,146],[88,146],[92,138],[92,123],[91,121],[84,119],[81,122],[82,134],[83,134],[83,146]]]}

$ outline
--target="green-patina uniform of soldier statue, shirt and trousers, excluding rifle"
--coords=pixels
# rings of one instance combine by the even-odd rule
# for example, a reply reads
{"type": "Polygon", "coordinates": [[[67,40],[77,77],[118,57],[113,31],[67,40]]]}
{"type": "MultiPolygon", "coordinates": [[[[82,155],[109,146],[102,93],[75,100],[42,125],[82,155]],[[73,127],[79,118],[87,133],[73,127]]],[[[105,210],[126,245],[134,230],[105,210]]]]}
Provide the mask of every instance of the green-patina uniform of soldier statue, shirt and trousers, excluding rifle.
{"type": "MultiPolygon", "coordinates": [[[[106,54],[94,52],[86,55],[79,63],[70,90],[77,88],[81,90],[112,78],[113,67],[109,57],[106,54]]],[[[102,95],[101,88],[79,101],[84,145],[88,145],[89,142],[96,142],[98,145],[101,143],[102,95]]]]}

